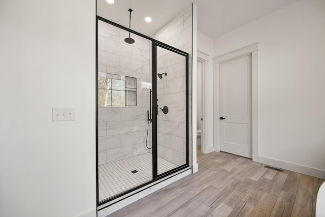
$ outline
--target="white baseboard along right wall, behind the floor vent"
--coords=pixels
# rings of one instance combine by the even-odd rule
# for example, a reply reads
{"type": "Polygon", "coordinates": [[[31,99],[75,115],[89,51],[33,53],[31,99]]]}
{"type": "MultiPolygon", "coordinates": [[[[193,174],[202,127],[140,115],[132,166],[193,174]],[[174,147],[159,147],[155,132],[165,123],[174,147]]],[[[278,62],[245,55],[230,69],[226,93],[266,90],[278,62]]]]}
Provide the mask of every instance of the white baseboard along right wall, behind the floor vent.
{"type": "Polygon", "coordinates": [[[282,168],[285,170],[290,170],[290,171],[314,176],[317,178],[325,179],[325,171],[323,171],[323,170],[306,167],[306,166],[302,166],[302,165],[298,165],[298,164],[293,164],[293,163],[289,163],[289,162],[279,161],[276,159],[267,158],[267,157],[263,157],[263,156],[258,156],[258,162],[262,163],[262,164],[267,164],[270,166],[282,168]]]}

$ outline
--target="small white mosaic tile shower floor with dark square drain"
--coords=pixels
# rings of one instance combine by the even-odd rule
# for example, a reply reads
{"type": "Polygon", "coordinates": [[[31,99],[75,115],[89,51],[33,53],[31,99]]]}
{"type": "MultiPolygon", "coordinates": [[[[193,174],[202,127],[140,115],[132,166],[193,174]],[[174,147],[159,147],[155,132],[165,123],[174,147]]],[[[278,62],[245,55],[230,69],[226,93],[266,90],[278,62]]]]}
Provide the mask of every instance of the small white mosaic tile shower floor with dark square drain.
{"type": "MultiPolygon", "coordinates": [[[[178,167],[158,157],[158,174],[178,167]]],[[[102,201],[152,180],[152,154],[145,153],[99,166],[99,200],[102,201]],[[137,173],[131,171],[137,170],[137,173]]]]}

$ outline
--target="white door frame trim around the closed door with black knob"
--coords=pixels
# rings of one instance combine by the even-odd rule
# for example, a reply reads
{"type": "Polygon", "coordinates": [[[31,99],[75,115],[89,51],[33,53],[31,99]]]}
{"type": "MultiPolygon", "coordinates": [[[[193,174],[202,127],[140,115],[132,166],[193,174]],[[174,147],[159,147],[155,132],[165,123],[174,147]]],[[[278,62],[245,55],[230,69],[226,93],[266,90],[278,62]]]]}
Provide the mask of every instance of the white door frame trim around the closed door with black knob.
{"type": "Polygon", "coordinates": [[[220,64],[246,55],[252,55],[252,160],[258,162],[258,43],[213,58],[213,142],[220,151],[220,64]]]}

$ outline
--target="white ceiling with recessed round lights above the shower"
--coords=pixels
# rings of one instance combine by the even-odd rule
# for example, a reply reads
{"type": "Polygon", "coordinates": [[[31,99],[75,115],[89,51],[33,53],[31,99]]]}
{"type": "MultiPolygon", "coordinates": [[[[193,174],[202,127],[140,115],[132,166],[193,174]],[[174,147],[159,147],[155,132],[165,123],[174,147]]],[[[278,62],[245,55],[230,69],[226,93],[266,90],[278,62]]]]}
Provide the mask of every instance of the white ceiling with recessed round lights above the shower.
{"type": "Polygon", "coordinates": [[[178,14],[194,3],[198,8],[198,30],[215,39],[232,30],[266,16],[299,0],[97,0],[97,14],[128,27],[133,9],[131,29],[152,36],[178,14]],[[144,21],[150,16],[152,21],[144,21]]]}

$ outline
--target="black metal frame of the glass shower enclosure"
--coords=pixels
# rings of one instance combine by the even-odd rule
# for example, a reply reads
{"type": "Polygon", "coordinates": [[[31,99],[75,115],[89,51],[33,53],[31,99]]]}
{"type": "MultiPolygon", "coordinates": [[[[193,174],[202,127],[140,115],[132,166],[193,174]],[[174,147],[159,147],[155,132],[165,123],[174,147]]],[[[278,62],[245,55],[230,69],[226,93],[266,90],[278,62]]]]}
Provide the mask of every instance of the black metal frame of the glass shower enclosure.
{"type": "MultiPolygon", "coordinates": [[[[101,206],[101,205],[104,205],[112,200],[115,200],[115,199],[118,199],[119,197],[122,197],[123,195],[126,195],[126,194],[129,194],[129,193],[132,193],[140,188],[143,188],[145,187],[146,185],[152,183],[152,182],[155,182],[161,178],[165,178],[171,174],[174,174],[180,170],[183,170],[185,168],[189,168],[189,110],[188,110],[188,107],[189,107],[189,96],[188,96],[188,92],[189,92],[189,54],[182,51],[182,50],[179,50],[177,48],[174,48],[168,44],[165,44],[163,42],[159,42],[153,38],[150,38],[148,36],[145,36],[141,33],[138,33],[132,29],[129,29],[127,27],[124,27],[122,25],[119,25],[115,22],[112,22],[110,20],[107,20],[103,17],[100,17],[100,16],[96,16],[96,84],[95,84],[95,88],[96,88],[96,93],[95,93],[95,97],[96,97],[96,204],[97,206],[101,206]],[[151,102],[151,106],[152,106],[152,109],[151,109],[151,113],[152,113],[152,180],[148,181],[148,182],[145,182],[141,185],[138,185],[137,187],[134,187],[132,189],[129,189],[127,191],[124,191],[124,192],[121,192],[117,195],[114,195],[110,198],[107,198],[107,199],[104,199],[102,201],[99,201],[99,165],[98,165],[98,162],[99,162],[99,137],[98,137],[98,22],[99,21],[103,21],[103,22],[106,22],[108,24],[111,24],[115,27],[118,27],[120,29],[123,29],[123,30],[126,30],[127,32],[130,32],[132,34],[135,34],[135,35],[138,35],[142,38],[145,38],[149,41],[151,41],[151,47],[152,47],[152,50],[151,50],[151,57],[152,57],[152,63],[151,63],[151,76],[152,76],[152,102],[151,102]],[[185,90],[185,93],[186,93],[186,164],[184,165],[181,165],[179,167],[176,167],[172,170],[169,170],[167,172],[164,172],[164,173],[161,173],[161,174],[157,174],[157,112],[158,112],[158,107],[157,107],[157,53],[156,53],[156,48],[158,47],[161,47],[161,48],[164,48],[164,49],[167,49],[169,51],[172,51],[172,52],[175,52],[177,54],[180,54],[182,56],[185,57],[185,73],[186,73],[186,77],[185,77],[185,80],[186,80],[186,90],[185,90]]],[[[151,186],[150,186],[151,187],[151,186]]],[[[129,195],[131,196],[131,195],[129,195]]],[[[127,197],[129,197],[127,196],[127,197]]],[[[122,198],[122,199],[125,199],[125,198],[122,198]]],[[[122,200],[121,199],[121,200],[122,200]]],[[[118,201],[116,201],[118,202],[118,201]]],[[[114,203],[116,203],[114,202],[114,203]]],[[[112,203],[112,204],[114,204],[112,203]]],[[[112,204],[109,204],[107,206],[110,206],[112,204]]],[[[106,208],[107,206],[103,207],[103,208],[106,208]]],[[[101,209],[103,209],[101,208],[101,209]]]]}

